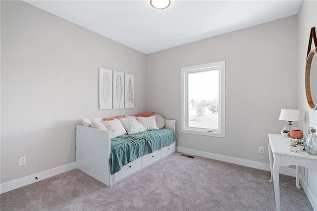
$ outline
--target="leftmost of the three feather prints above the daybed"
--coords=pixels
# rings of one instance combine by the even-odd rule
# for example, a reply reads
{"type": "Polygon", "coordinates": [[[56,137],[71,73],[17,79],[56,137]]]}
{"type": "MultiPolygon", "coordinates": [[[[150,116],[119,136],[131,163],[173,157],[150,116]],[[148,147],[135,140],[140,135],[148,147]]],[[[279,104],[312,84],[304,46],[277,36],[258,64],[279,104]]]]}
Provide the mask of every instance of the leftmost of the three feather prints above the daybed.
{"type": "Polygon", "coordinates": [[[112,70],[99,67],[99,109],[112,109],[112,70]]]}

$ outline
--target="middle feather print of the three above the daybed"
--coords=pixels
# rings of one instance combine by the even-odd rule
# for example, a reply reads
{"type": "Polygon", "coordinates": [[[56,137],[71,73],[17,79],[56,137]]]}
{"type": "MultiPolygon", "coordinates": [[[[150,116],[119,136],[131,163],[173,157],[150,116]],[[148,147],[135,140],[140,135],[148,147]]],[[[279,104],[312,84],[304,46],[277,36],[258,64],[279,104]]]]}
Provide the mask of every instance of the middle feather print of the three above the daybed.
{"type": "Polygon", "coordinates": [[[113,71],[113,109],[124,108],[124,73],[113,71]]]}

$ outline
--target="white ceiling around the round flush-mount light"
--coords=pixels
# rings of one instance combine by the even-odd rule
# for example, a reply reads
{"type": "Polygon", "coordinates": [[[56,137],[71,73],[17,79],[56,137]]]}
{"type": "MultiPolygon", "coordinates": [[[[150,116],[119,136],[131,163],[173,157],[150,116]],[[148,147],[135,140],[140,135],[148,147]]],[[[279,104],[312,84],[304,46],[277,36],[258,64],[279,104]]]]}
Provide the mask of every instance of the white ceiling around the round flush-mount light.
{"type": "Polygon", "coordinates": [[[143,53],[154,53],[297,14],[301,0],[24,0],[143,53]]]}

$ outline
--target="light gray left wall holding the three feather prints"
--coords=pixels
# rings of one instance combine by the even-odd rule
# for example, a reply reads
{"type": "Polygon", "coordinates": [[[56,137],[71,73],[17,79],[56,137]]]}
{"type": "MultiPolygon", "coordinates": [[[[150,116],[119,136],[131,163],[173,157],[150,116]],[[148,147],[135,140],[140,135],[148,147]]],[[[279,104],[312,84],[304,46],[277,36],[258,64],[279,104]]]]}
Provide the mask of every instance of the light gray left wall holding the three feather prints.
{"type": "Polygon", "coordinates": [[[74,162],[81,117],[143,112],[145,75],[145,54],[1,0],[1,183],[74,162]],[[98,67],[135,75],[135,109],[98,109],[98,67]]]}

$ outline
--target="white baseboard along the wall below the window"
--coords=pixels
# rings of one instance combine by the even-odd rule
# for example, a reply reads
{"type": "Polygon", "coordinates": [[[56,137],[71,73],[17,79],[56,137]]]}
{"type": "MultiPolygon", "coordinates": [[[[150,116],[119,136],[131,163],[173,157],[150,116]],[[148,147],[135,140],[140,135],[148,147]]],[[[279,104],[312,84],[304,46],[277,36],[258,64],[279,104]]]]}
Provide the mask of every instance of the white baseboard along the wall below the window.
{"type": "MultiPolygon", "coordinates": [[[[186,153],[186,154],[200,156],[204,158],[211,158],[211,159],[220,160],[224,162],[230,162],[233,164],[243,165],[243,166],[247,166],[251,168],[257,168],[257,169],[266,170],[270,172],[270,166],[268,163],[265,163],[264,165],[262,162],[257,162],[253,160],[242,159],[242,158],[234,158],[230,156],[223,156],[223,155],[218,155],[218,154],[213,154],[213,153],[208,153],[208,152],[203,152],[198,150],[191,150],[191,149],[187,149],[183,147],[176,147],[176,152],[186,153]]],[[[287,167],[281,166],[279,173],[296,177],[296,169],[293,169],[293,168],[287,168],[287,167]]]]}

